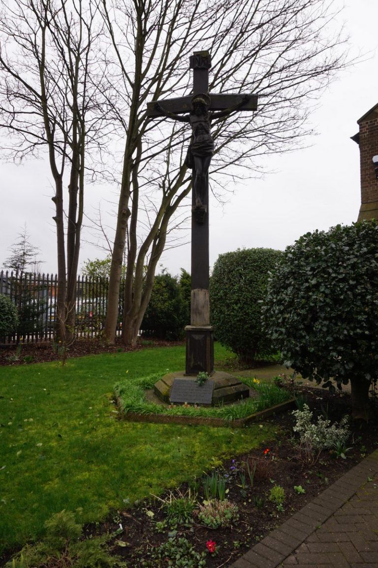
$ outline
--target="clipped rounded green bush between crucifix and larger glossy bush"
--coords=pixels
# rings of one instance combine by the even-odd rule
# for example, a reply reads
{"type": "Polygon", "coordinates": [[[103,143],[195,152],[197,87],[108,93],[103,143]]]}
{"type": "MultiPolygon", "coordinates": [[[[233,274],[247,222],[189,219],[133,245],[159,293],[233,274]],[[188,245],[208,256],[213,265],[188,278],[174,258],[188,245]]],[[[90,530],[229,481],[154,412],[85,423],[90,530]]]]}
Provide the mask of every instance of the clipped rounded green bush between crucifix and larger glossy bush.
{"type": "Polygon", "coordinates": [[[217,341],[242,362],[258,353],[274,353],[261,325],[261,301],[269,274],[282,252],[265,248],[238,249],[221,254],[210,281],[210,321],[217,341]]]}

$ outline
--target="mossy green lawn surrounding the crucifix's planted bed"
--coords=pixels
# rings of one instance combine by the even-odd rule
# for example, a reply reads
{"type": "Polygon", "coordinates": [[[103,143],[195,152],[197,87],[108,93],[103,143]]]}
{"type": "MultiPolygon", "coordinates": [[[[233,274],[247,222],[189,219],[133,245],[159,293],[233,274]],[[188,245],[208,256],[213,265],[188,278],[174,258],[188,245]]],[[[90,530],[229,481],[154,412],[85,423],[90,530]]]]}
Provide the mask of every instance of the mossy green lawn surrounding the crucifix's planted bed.
{"type": "MultiPolygon", "coordinates": [[[[229,358],[216,344],[216,367],[229,358]]],[[[0,554],[40,537],[52,513],[102,520],[274,438],[268,425],[117,420],[116,382],[184,367],[184,346],[0,367],[0,554]]]]}

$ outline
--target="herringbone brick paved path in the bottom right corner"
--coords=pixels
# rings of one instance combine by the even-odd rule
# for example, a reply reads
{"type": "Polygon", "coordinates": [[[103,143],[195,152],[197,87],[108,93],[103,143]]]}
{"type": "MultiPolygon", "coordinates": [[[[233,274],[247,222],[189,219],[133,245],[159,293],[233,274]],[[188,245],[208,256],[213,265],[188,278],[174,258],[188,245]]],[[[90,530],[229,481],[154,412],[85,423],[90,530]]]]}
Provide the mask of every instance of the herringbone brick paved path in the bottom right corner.
{"type": "Polygon", "coordinates": [[[378,450],[230,568],[378,568],[378,450]]]}

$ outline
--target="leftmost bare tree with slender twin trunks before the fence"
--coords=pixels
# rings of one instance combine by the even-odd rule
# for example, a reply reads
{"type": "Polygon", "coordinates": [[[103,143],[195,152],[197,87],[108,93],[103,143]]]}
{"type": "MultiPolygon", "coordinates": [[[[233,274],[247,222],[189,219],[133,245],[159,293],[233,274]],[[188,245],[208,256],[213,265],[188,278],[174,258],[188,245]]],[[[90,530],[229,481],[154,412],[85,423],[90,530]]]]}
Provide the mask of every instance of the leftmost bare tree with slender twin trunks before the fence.
{"type": "Polygon", "coordinates": [[[96,2],[83,0],[9,0],[0,14],[0,127],[11,134],[4,152],[15,161],[47,153],[54,180],[61,337],[74,320],[87,156],[109,131],[102,26],[96,2]]]}

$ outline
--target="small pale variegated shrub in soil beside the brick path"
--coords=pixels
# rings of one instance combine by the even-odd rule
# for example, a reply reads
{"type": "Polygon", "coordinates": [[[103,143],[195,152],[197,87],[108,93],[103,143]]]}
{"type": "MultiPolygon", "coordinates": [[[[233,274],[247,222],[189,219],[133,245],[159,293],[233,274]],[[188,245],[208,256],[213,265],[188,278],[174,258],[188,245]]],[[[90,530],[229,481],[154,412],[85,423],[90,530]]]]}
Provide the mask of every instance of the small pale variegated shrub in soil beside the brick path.
{"type": "Polygon", "coordinates": [[[308,404],[292,414],[297,421],[293,431],[299,433],[299,458],[304,463],[316,463],[322,450],[331,450],[337,444],[345,444],[348,439],[347,416],[341,419],[340,424],[335,422],[332,425],[329,419],[319,416],[317,424],[313,424],[308,404]]]}

